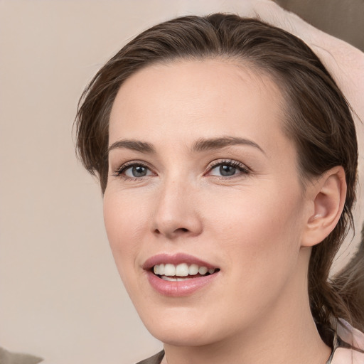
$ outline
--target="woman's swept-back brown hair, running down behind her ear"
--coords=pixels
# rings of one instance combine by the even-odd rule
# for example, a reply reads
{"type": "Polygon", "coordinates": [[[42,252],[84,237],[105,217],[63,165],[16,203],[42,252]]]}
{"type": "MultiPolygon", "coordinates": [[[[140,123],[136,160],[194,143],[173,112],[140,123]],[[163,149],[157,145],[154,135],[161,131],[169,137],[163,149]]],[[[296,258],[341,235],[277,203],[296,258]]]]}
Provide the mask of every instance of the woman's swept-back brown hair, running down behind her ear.
{"type": "Polygon", "coordinates": [[[338,286],[328,279],[333,257],[353,226],[358,164],[355,126],[336,82],[299,38],[257,19],[230,14],[184,16],[144,31],[99,70],[82,94],[76,117],[82,163],[100,176],[104,192],[109,114],[122,82],[153,63],[206,58],[239,60],[277,82],[286,100],[284,130],[296,144],[303,182],[333,166],[345,169],[346,203],[336,228],[312,250],[309,297],[319,328],[329,326],[330,316],[362,325],[338,286]]]}

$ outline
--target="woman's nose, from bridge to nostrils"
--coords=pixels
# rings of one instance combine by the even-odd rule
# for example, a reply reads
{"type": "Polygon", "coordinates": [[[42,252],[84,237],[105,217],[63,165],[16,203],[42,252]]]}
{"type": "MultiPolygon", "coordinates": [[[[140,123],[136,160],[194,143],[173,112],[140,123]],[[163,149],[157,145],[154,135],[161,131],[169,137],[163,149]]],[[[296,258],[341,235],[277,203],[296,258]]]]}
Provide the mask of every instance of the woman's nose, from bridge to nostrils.
{"type": "Polygon", "coordinates": [[[196,188],[186,181],[166,181],[156,196],[153,233],[169,240],[199,235],[203,224],[197,196],[196,188]]]}

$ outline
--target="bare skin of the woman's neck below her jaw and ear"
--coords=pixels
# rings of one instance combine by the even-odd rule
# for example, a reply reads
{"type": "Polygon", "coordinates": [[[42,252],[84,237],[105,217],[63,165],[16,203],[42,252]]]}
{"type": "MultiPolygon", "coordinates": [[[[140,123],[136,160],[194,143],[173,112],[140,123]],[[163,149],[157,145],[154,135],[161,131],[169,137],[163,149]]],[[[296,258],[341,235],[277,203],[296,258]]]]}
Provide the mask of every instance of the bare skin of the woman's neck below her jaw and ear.
{"type": "Polygon", "coordinates": [[[331,354],[321,340],[309,308],[307,266],[311,249],[301,248],[301,266],[275,304],[254,327],[206,346],[164,344],[162,364],[325,364],[331,354]]]}

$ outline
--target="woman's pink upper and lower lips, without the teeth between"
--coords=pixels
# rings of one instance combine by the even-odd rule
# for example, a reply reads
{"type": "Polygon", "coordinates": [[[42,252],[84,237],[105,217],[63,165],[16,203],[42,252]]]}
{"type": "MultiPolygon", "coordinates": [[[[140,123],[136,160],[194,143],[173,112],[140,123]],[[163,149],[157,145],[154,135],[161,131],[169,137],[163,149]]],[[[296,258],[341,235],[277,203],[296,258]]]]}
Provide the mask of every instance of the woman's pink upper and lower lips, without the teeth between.
{"type": "Polygon", "coordinates": [[[186,255],[184,253],[178,253],[176,255],[168,255],[168,254],[159,254],[154,255],[146,260],[143,264],[143,269],[146,271],[146,276],[148,278],[149,284],[153,287],[159,294],[170,297],[182,297],[189,296],[199,289],[203,289],[204,287],[212,284],[215,279],[220,276],[220,271],[215,272],[214,274],[210,274],[208,276],[203,277],[195,277],[191,279],[187,279],[185,281],[180,282],[171,282],[165,281],[157,277],[153,272],[151,272],[151,268],[156,264],[197,264],[200,267],[210,268],[218,268],[214,267],[212,264],[208,262],[204,262],[201,259],[193,257],[192,255],[186,255]]]}

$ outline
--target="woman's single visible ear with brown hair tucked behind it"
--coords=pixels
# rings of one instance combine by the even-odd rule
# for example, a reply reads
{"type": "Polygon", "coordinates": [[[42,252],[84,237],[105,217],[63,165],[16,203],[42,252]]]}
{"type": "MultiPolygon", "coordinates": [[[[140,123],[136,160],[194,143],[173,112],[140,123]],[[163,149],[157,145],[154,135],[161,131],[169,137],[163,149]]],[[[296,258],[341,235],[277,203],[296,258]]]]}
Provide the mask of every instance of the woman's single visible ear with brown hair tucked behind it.
{"type": "Polygon", "coordinates": [[[335,228],[346,199],[346,178],[342,166],[336,166],[323,173],[315,183],[308,186],[308,196],[314,208],[301,240],[301,246],[312,247],[322,242],[335,228]]]}

